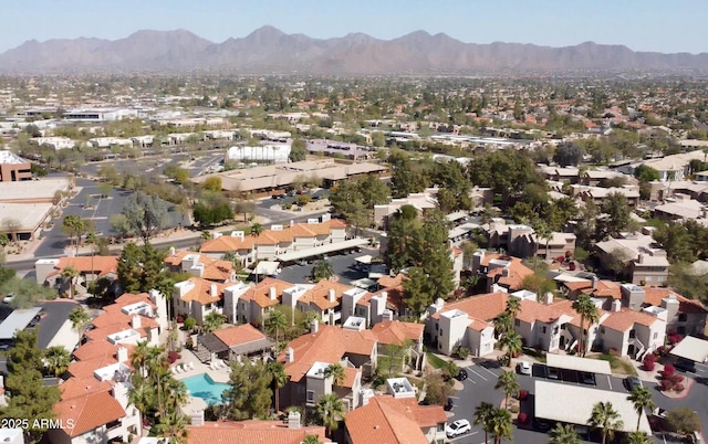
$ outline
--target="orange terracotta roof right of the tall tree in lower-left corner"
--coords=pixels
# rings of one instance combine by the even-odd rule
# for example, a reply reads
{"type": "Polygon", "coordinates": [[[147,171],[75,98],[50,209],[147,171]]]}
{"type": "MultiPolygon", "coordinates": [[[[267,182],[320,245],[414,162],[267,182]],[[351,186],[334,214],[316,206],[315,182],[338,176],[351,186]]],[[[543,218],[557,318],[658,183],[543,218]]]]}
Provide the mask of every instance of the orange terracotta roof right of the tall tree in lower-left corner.
{"type": "Polygon", "coordinates": [[[64,429],[64,433],[70,437],[82,435],[125,416],[121,403],[106,391],[61,401],[54,405],[54,412],[62,424],[74,423],[73,429],[64,429]]]}

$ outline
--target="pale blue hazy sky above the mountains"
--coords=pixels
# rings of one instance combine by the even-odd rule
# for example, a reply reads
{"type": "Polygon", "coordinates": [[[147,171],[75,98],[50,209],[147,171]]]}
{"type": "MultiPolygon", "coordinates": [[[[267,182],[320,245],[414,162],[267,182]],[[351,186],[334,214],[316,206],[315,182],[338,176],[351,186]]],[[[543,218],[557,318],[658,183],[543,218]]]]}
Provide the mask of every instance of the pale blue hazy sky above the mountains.
{"type": "Polygon", "coordinates": [[[312,38],[425,30],[473,43],[699,53],[708,52],[707,20],[708,0],[9,0],[0,52],[32,39],[116,40],[140,29],[186,29],[219,43],[271,24],[312,38]]]}

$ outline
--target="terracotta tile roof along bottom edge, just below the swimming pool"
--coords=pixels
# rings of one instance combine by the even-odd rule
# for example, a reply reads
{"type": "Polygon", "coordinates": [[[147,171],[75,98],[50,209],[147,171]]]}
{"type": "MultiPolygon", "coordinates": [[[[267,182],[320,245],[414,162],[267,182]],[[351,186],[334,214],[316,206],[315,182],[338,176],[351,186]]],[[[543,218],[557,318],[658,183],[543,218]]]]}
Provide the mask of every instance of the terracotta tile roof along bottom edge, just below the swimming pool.
{"type": "Polygon", "coordinates": [[[189,444],[300,444],[305,435],[317,435],[323,443],[324,427],[288,429],[282,421],[206,422],[188,425],[189,444]]]}

